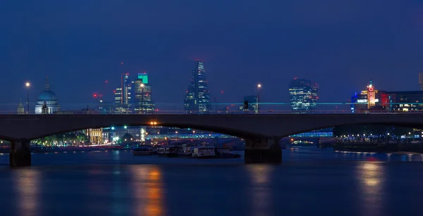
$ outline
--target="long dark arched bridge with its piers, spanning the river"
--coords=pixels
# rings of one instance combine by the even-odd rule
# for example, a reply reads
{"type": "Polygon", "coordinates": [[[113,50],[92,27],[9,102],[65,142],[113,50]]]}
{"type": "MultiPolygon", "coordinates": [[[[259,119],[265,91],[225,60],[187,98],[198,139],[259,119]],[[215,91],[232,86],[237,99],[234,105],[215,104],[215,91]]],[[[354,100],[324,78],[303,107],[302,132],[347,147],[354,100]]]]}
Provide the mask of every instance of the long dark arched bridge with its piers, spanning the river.
{"type": "Polygon", "coordinates": [[[423,113],[0,115],[0,139],[11,141],[12,167],[30,166],[30,141],[52,134],[111,126],[152,125],[201,129],[245,139],[245,162],[281,162],[282,137],[341,125],[423,128],[423,113]]]}

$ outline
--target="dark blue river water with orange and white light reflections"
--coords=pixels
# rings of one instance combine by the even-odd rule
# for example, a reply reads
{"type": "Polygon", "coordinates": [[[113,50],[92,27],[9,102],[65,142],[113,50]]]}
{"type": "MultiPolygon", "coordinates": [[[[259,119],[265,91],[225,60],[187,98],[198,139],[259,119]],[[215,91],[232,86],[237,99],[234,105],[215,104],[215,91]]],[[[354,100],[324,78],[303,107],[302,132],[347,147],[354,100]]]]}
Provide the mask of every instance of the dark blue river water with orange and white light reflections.
{"type": "Polygon", "coordinates": [[[0,215],[422,215],[422,155],[284,150],[281,165],[130,151],[0,155],[0,215]]]}

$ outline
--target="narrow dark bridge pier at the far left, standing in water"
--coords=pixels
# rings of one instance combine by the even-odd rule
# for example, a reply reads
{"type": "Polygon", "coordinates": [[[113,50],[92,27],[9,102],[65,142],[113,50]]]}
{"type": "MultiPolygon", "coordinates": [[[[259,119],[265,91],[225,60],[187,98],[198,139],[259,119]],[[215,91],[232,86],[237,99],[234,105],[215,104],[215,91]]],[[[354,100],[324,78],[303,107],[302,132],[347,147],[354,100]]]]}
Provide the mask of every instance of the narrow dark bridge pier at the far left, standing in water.
{"type": "Polygon", "coordinates": [[[30,141],[27,139],[11,141],[9,159],[11,167],[29,167],[31,165],[30,141]]]}

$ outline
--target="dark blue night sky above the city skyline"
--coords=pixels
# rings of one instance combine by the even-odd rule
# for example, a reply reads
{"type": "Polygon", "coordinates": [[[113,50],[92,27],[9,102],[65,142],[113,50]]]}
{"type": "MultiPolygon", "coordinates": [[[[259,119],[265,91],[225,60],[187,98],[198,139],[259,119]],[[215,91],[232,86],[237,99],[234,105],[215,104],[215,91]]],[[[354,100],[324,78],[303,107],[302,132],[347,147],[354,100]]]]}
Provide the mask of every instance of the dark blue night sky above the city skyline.
{"type": "MultiPolygon", "coordinates": [[[[346,101],[369,79],[417,90],[423,1],[0,1],[2,103],[34,100],[49,76],[59,102],[87,103],[147,71],[157,103],[182,103],[202,58],[212,96],[287,102],[293,77],[320,85],[320,101],[346,101]],[[121,62],[124,63],[121,67],[121,62]],[[224,91],[224,94],[220,94],[224,91]]],[[[181,105],[182,107],[182,105],[181,105]]]]}

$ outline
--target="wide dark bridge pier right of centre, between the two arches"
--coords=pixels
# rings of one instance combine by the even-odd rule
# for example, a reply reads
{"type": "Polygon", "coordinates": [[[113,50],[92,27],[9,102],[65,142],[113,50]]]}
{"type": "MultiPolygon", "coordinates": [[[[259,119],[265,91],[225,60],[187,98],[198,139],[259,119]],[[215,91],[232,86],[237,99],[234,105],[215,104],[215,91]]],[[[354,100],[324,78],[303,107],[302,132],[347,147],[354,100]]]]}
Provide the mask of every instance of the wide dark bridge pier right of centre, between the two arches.
{"type": "Polygon", "coordinates": [[[279,137],[245,139],[245,163],[281,163],[282,150],[279,137]]]}

